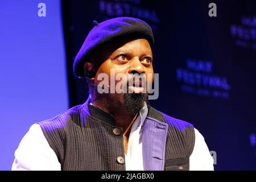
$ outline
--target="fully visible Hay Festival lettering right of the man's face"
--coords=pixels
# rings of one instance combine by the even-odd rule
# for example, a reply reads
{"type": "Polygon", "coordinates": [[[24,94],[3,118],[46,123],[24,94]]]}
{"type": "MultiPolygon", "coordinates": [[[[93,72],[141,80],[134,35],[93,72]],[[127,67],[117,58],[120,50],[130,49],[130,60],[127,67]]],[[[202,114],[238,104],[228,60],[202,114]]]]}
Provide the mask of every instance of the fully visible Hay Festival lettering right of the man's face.
{"type": "Polygon", "coordinates": [[[214,75],[208,60],[187,59],[187,68],[176,69],[177,81],[183,92],[206,97],[229,98],[228,78],[214,75]]]}

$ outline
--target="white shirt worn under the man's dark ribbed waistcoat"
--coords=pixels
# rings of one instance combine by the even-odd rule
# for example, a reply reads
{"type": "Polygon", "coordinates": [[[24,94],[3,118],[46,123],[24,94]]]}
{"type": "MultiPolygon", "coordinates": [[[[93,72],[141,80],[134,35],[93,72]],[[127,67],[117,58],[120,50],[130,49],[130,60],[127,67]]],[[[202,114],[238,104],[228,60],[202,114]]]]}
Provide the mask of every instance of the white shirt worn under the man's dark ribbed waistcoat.
{"type": "MultiPolygon", "coordinates": [[[[127,171],[143,171],[142,158],[142,124],[147,116],[146,103],[135,119],[129,135],[125,167],[127,171]]],[[[12,170],[55,170],[61,166],[55,152],[49,146],[43,131],[38,124],[30,127],[15,151],[12,170]]],[[[195,146],[189,157],[189,170],[213,170],[213,158],[210,155],[204,137],[195,129],[195,146]]]]}

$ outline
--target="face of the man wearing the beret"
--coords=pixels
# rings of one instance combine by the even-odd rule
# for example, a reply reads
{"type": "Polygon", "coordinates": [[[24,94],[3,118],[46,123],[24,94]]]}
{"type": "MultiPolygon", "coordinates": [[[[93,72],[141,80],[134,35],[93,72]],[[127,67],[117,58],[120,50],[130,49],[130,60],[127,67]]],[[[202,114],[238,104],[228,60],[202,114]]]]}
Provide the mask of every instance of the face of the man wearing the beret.
{"type": "MultiPolygon", "coordinates": [[[[117,76],[118,73],[122,73],[127,77],[127,92],[129,92],[128,90],[130,90],[130,92],[133,92],[133,94],[114,93],[110,95],[114,95],[113,97],[115,97],[115,99],[118,99],[121,103],[133,99],[138,101],[141,100],[139,102],[142,102],[142,98],[144,101],[148,94],[148,85],[151,86],[152,81],[154,81],[154,71],[152,67],[152,50],[150,44],[146,39],[125,40],[125,42],[123,43],[114,42],[112,44],[108,44],[108,47],[104,48],[104,50],[101,51],[100,55],[97,55],[97,57],[98,56],[101,56],[101,59],[103,60],[101,60],[102,64],[97,69],[94,84],[99,84],[102,81],[97,79],[98,75],[100,75],[101,73],[106,73],[106,75],[108,75],[109,85],[113,84],[113,76],[111,77],[111,74],[113,75],[114,73],[114,75],[117,76]],[[131,82],[131,80],[133,80],[132,75],[134,75],[135,73],[144,78],[144,80],[146,81],[146,86],[143,86],[142,82],[140,81],[131,82]],[[131,84],[128,85],[128,82],[129,84],[131,84]],[[146,90],[144,90],[145,88],[146,90]]],[[[114,78],[115,85],[117,85],[119,81],[120,80],[115,80],[114,78]]],[[[129,105],[134,104],[136,105],[138,103],[130,103],[129,105]]]]}

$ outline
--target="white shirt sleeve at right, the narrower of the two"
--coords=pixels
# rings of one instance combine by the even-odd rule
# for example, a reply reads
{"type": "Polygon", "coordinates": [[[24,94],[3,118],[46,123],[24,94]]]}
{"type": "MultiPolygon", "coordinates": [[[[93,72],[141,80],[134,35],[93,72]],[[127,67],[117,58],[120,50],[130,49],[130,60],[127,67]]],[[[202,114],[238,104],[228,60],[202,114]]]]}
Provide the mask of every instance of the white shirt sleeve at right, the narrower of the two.
{"type": "Polygon", "coordinates": [[[189,157],[190,171],[213,171],[213,158],[210,155],[207,144],[205,143],[203,135],[195,129],[195,146],[193,152],[189,157]]]}

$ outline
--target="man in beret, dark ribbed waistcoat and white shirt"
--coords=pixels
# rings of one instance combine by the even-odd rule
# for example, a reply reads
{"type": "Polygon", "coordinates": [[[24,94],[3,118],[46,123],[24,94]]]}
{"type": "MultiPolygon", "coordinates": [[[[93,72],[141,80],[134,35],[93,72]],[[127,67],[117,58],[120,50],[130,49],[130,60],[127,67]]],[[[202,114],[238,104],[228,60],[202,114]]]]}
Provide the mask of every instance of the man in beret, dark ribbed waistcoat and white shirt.
{"type": "Polygon", "coordinates": [[[94,21],[74,62],[75,74],[88,81],[88,100],[32,125],[12,169],[213,170],[199,131],[146,102],[154,80],[153,44],[150,26],[140,19],[94,21]],[[127,78],[119,91],[130,92],[109,92],[116,79],[102,84],[102,75],[113,71],[127,78]]]}

